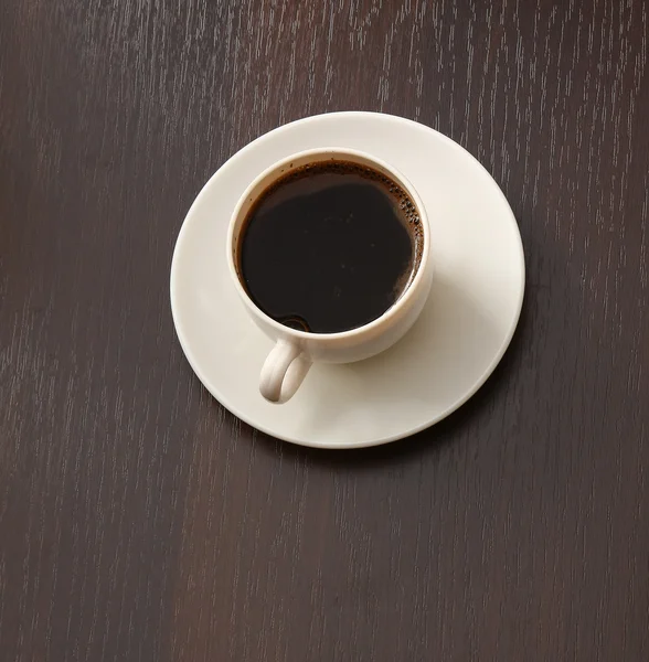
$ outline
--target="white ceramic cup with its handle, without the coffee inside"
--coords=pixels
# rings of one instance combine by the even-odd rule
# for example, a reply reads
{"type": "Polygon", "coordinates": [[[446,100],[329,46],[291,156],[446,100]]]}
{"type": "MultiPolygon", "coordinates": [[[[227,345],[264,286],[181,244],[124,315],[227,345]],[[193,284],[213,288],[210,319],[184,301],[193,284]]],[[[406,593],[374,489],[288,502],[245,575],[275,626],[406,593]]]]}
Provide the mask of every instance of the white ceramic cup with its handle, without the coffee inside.
{"type": "Polygon", "coordinates": [[[368,153],[324,148],[295,153],[262,172],[241,196],[230,222],[227,233],[227,266],[234,286],[257,327],[275,346],[262,367],[259,391],[272,403],[284,403],[292,397],[313,362],[351,363],[383,352],[414,324],[430,291],[430,231],[426,210],[413,185],[395,168],[368,153]],[[423,229],[423,248],[418,267],[409,285],[397,301],[381,317],[350,331],[339,333],[309,333],[285,327],[263,312],[252,301],[242,285],[237,267],[238,237],[251,207],[277,179],[307,164],[323,161],[345,161],[369,167],[397,183],[411,197],[423,229]]]}

